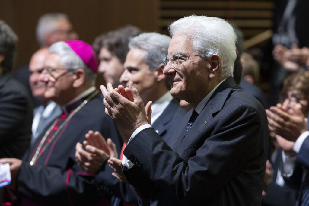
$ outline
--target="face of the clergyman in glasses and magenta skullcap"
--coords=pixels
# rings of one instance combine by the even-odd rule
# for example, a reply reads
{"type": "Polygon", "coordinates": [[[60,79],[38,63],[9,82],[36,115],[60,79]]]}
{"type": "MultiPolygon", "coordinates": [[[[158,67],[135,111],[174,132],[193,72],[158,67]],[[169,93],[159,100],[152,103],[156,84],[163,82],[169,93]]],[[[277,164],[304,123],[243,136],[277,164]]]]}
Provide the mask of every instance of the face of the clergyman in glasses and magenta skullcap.
{"type": "Polygon", "coordinates": [[[75,75],[61,66],[60,60],[59,55],[50,53],[44,62],[47,69],[43,70],[40,79],[47,83],[44,97],[63,105],[70,101],[75,75]]]}

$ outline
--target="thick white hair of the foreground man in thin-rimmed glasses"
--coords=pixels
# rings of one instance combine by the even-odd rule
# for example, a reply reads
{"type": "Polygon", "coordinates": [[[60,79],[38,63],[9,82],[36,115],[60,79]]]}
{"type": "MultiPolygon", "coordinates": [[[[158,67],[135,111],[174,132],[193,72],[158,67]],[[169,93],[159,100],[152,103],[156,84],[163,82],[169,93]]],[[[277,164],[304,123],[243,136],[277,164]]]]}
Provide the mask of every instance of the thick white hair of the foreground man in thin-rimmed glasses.
{"type": "Polygon", "coordinates": [[[217,54],[222,61],[222,79],[233,76],[236,35],[226,20],[192,15],[175,21],[168,30],[172,37],[182,35],[188,38],[198,55],[209,58],[217,54]]]}

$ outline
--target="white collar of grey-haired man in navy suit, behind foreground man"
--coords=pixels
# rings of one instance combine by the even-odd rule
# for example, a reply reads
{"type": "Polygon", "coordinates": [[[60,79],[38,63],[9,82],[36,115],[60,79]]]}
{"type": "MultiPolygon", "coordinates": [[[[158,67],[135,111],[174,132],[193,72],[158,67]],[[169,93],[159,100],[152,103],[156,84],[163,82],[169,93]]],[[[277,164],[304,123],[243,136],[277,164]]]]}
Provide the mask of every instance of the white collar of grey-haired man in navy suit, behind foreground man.
{"type": "Polygon", "coordinates": [[[154,123],[155,120],[163,113],[169,103],[173,100],[173,97],[169,91],[167,91],[163,96],[157,99],[151,105],[151,123],[154,123]]]}

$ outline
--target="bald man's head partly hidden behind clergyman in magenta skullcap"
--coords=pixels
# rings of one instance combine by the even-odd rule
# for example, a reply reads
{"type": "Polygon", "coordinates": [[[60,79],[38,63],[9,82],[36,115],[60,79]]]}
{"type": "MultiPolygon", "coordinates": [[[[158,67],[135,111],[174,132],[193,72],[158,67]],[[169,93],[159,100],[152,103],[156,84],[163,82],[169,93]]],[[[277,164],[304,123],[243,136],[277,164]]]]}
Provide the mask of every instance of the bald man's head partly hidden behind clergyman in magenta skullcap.
{"type": "Polygon", "coordinates": [[[40,74],[43,71],[44,61],[48,55],[48,48],[42,48],[36,51],[30,59],[29,63],[29,84],[32,90],[32,95],[44,100],[44,92],[46,83],[40,80],[40,74]]]}

